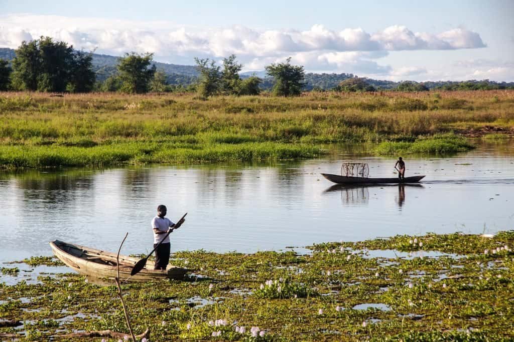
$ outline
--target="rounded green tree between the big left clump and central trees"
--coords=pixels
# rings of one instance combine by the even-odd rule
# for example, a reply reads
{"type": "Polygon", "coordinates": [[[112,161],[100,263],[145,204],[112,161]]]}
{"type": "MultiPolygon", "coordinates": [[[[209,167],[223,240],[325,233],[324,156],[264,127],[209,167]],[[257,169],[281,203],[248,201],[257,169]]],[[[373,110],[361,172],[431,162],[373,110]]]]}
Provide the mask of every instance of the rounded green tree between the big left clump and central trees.
{"type": "Polygon", "coordinates": [[[118,71],[122,82],[121,91],[145,93],[154,77],[156,67],[152,64],[153,53],[125,53],[119,59],[118,71]]]}

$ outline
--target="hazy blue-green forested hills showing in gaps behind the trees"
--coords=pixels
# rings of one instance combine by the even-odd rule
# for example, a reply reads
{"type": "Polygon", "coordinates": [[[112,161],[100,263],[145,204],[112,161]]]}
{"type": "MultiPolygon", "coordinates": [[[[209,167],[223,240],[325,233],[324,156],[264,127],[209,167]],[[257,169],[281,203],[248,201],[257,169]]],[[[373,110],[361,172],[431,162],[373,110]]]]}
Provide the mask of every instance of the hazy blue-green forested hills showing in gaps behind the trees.
{"type": "MultiPolygon", "coordinates": [[[[10,61],[15,57],[13,49],[0,48],[0,58],[7,59],[10,61]]],[[[116,73],[116,65],[118,64],[118,58],[116,56],[104,55],[104,54],[93,54],[93,70],[96,73],[97,81],[103,82],[105,79],[116,73]]],[[[177,65],[154,62],[157,70],[161,70],[167,75],[167,81],[173,85],[187,86],[196,82],[198,77],[198,71],[195,66],[192,65],[177,65]]],[[[247,78],[252,75],[263,78],[261,84],[262,89],[271,89],[273,86],[273,79],[266,76],[264,70],[260,71],[247,71],[242,72],[241,77],[247,78]]],[[[306,73],[305,74],[305,89],[322,89],[328,90],[335,88],[341,81],[347,78],[354,77],[351,73],[306,73]]],[[[400,82],[393,81],[381,81],[378,79],[366,78],[366,82],[373,85],[376,89],[394,89],[400,82]]],[[[429,88],[440,88],[440,89],[490,89],[490,88],[512,88],[514,82],[494,82],[494,81],[429,81],[423,82],[423,84],[429,88]]]]}

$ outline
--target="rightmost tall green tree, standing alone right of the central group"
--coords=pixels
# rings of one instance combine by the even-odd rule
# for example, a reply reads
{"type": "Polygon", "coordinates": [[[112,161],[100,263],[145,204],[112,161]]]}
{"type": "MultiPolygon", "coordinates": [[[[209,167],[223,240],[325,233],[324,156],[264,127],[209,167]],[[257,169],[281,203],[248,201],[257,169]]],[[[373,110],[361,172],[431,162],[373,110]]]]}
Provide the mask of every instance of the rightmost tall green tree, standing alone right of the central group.
{"type": "Polygon", "coordinates": [[[286,59],[286,63],[265,67],[267,74],[274,78],[273,94],[277,96],[300,95],[305,85],[302,82],[305,77],[303,66],[291,65],[290,62],[291,57],[286,59]]]}

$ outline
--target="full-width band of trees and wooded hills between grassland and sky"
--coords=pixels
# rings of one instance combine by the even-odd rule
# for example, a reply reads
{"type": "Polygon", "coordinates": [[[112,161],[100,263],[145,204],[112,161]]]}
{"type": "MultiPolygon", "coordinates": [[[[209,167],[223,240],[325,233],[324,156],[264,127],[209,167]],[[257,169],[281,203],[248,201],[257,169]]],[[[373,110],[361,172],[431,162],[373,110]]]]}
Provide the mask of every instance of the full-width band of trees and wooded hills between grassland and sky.
{"type": "MultiPolygon", "coordinates": [[[[12,50],[11,50],[12,51],[12,50]]],[[[11,52],[12,53],[12,52],[11,52]]],[[[65,42],[54,42],[50,37],[40,37],[22,42],[14,51],[12,63],[0,58],[0,91],[29,90],[44,92],[119,91],[145,92],[197,92],[200,97],[214,95],[256,95],[269,89],[277,96],[295,96],[301,91],[427,91],[512,89],[512,83],[489,80],[465,82],[379,81],[357,77],[353,74],[305,74],[303,66],[284,63],[265,67],[267,77],[255,75],[242,77],[243,65],[235,55],[217,65],[209,58],[195,58],[195,66],[188,67],[189,74],[170,74],[157,69],[153,54],[125,53],[117,58],[116,65],[108,64],[112,56],[96,55],[105,59],[94,71],[93,53],[77,51],[65,42]],[[193,74],[196,70],[198,76],[193,74]],[[103,79],[100,82],[98,79],[103,79]]],[[[9,58],[9,56],[7,57],[9,58]]],[[[112,63],[112,62],[111,62],[112,63]]],[[[162,64],[161,64],[162,66],[162,64]]],[[[170,65],[172,68],[180,66],[170,65]]],[[[183,67],[183,66],[182,66],[183,67]]],[[[169,70],[168,70],[169,71],[169,70]]]]}

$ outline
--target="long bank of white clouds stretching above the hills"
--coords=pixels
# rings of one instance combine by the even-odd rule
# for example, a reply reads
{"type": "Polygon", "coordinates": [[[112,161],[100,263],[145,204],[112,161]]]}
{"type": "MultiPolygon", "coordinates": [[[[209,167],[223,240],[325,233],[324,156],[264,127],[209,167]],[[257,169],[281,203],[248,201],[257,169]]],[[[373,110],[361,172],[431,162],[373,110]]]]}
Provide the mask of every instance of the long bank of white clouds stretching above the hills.
{"type": "MultiPolygon", "coordinates": [[[[425,77],[430,71],[415,66],[393,69],[378,60],[390,51],[482,48],[476,32],[464,28],[437,34],[413,32],[394,25],[373,34],[362,28],[331,30],[314,25],[308,30],[262,30],[234,25],[197,27],[173,22],[141,22],[106,18],[49,15],[0,15],[0,47],[16,48],[22,41],[48,35],[75,48],[121,55],[152,52],[157,61],[193,64],[194,57],[237,55],[246,70],[262,70],[270,63],[301,64],[308,71],[348,72],[381,78],[425,77]],[[166,57],[165,57],[166,56],[166,57]]],[[[493,72],[475,68],[476,71],[493,72]]]]}

